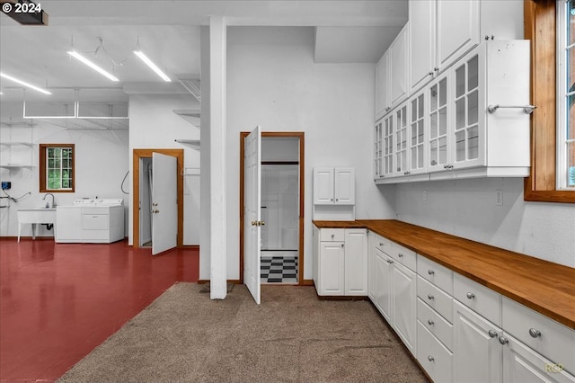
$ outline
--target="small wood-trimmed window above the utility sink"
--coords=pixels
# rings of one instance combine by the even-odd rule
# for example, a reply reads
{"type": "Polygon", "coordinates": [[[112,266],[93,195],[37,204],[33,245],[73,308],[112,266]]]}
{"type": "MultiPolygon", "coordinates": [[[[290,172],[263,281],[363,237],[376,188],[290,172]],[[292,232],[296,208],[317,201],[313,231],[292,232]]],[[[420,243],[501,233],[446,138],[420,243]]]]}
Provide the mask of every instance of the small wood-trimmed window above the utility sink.
{"type": "Polygon", "coordinates": [[[74,191],[74,144],[40,144],[40,192],[74,191]]]}

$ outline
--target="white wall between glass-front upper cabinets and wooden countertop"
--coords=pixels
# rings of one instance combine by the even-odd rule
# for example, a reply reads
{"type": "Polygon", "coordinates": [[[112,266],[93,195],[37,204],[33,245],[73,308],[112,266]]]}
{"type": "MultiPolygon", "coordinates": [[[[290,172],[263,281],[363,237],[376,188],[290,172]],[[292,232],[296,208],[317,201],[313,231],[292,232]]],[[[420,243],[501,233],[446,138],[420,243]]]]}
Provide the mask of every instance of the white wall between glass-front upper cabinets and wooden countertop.
{"type": "Polygon", "coordinates": [[[575,206],[524,201],[523,178],[405,183],[396,192],[405,222],[575,267],[575,206]]]}

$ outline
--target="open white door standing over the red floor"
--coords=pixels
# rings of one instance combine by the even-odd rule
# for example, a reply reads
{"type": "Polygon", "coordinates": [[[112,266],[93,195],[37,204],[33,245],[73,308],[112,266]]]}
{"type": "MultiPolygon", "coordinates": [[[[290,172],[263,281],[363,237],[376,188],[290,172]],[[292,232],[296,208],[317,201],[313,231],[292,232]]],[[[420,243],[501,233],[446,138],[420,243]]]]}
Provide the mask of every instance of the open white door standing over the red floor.
{"type": "Polygon", "coordinates": [[[177,158],[152,153],[152,172],[152,255],[155,255],[177,245],[177,158]]]}

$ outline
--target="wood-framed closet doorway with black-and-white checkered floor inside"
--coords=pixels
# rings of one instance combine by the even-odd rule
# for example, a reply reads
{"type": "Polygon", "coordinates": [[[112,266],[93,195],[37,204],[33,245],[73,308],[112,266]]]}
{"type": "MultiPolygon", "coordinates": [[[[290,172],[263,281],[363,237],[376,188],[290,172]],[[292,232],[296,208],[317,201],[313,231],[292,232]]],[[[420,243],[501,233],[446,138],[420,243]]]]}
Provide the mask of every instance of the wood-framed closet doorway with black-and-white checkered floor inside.
{"type": "MultiPolygon", "coordinates": [[[[240,280],[244,138],[240,134],[240,280]]],[[[261,284],[304,282],[304,132],[261,132],[261,284]]]]}

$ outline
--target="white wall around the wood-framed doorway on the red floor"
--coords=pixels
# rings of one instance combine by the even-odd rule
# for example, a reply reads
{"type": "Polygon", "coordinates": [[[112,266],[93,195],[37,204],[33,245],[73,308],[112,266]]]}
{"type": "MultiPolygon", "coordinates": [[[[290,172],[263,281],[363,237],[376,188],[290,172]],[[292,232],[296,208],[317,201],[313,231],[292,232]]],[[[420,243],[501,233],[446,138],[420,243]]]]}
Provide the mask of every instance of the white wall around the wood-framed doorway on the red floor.
{"type": "MultiPolygon", "coordinates": [[[[132,153],[135,148],[184,149],[184,222],[183,244],[199,244],[199,175],[191,169],[199,168],[199,152],[175,142],[175,139],[199,139],[199,129],[183,120],[173,110],[199,109],[199,102],[191,94],[131,94],[129,96],[129,170],[130,191],[132,153]]],[[[127,159],[128,161],[128,159],[127,159]]],[[[197,172],[196,172],[197,173],[197,172]]],[[[128,233],[133,245],[133,207],[129,198],[128,233]]]]}

